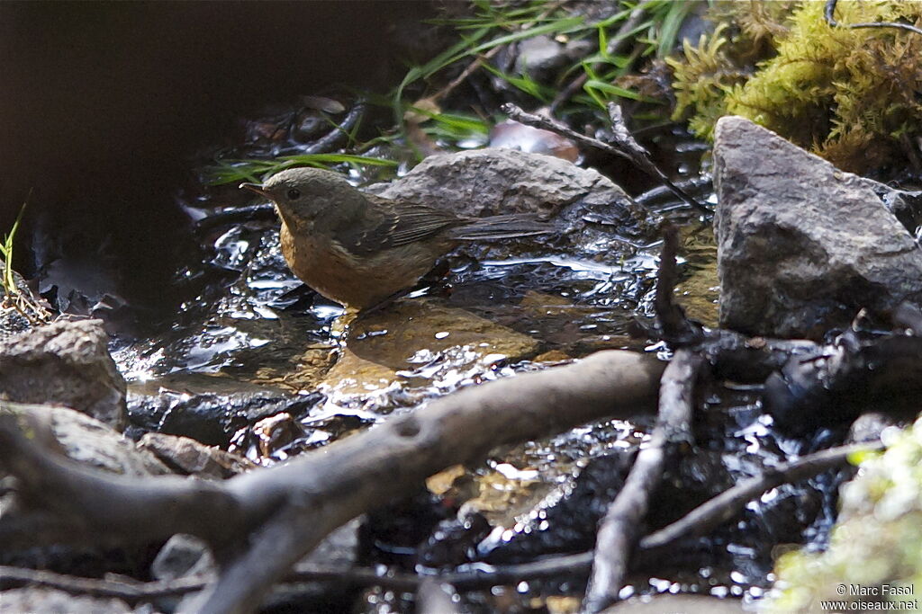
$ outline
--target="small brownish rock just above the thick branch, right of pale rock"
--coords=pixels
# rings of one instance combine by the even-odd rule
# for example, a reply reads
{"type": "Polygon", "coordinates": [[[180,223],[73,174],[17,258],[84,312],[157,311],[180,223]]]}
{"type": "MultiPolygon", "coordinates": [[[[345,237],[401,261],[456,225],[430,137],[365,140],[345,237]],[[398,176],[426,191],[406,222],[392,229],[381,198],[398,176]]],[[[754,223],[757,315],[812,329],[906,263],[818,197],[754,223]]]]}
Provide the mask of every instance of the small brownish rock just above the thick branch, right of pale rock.
{"type": "Polygon", "coordinates": [[[189,437],[148,433],[141,437],[137,446],[149,450],[176,473],[198,478],[223,480],[256,467],[246,458],[215,446],[204,446],[189,437]]]}

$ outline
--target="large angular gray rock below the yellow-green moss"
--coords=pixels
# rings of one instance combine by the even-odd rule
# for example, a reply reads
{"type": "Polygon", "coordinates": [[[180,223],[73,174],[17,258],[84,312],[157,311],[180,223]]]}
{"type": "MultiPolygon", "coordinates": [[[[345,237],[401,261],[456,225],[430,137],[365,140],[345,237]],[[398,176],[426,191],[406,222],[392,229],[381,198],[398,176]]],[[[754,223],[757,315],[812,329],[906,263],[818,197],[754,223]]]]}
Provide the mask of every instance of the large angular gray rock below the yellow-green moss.
{"type": "Polygon", "coordinates": [[[741,117],[714,146],[722,326],[818,339],[922,297],[922,251],[872,182],[741,117]]]}

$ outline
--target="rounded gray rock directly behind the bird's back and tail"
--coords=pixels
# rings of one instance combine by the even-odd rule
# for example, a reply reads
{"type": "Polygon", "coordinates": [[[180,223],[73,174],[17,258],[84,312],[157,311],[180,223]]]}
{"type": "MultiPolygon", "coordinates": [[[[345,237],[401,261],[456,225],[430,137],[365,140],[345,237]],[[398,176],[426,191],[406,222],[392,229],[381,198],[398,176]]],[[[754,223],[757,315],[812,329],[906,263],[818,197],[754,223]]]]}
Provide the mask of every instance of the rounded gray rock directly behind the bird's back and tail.
{"type": "MultiPolygon", "coordinates": [[[[610,258],[624,251],[624,236],[644,236],[653,229],[644,209],[597,171],[512,149],[430,156],[400,180],[370,190],[475,217],[521,212],[555,217],[557,233],[519,239],[535,249],[550,246],[610,258]]],[[[508,251],[504,247],[497,253],[508,256],[508,251]]]]}

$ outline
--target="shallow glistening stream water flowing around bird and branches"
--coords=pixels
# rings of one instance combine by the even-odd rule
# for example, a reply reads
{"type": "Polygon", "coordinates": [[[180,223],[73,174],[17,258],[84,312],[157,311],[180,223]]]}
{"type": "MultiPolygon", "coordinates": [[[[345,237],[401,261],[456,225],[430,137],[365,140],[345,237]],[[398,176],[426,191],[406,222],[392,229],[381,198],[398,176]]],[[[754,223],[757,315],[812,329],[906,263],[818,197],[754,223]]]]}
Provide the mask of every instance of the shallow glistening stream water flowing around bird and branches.
{"type": "MultiPolygon", "coordinates": [[[[688,152],[688,160],[698,155],[694,148],[688,152]]],[[[688,177],[691,162],[685,164],[688,177]]],[[[227,203],[228,191],[203,187],[187,201],[207,214],[227,203]]],[[[678,300],[692,318],[715,325],[710,220],[668,198],[651,206],[682,228],[678,300]]],[[[660,344],[636,336],[633,325],[652,317],[659,243],[655,236],[638,241],[620,237],[617,229],[606,232],[614,240],[604,245],[617,245],[617,251],[589,242],[573,253],[514,243],[504,254],[489,250],[486,259],[457,252],[395,306],[353,319],[291,275],[278,251],[277,222],[209,231],[201,237],[207,258],[177,273],[179,281],[193,280],[199,294],[159,332],[124,342],[115,353],[129,380],[134,434],[151,428],[203,433],[199,438],[208,443],[271,466],[459,387],[600,349],[666,357],[660,344]]],[[[652,525],[665,525],[736,481],[810,451],[810,441],[776,432],[762,414],[759,392],[715,384],[703,393],[697,445],[670,469],[652,525]]],[[[650,426],[649,416],[585,425],[494,450],[477,467],[443,472],[430,481],[430,491],[452,511],[430,527],[425,544],[408,547],[382,537],[367,554],[431,572],[589,549],[597,518],[650,426]]],[[[828,443],[841,434],[823,436],[828,443]]],[[[639,571],[624,596],[761,597],[779,543],[826,539],[844,475],[766,493],[737,522],[681,544],[668,564],[639,571]]],[[[392,536],[386,525],[406,514],[383,511],[372,531],[392,536]]],[[[497,611],[509,595],[519,604],[547,603],[583,588],[579,578],[561,578],[472,591],[462,600],[475,611],[497,611]]],[[[410,607],[394,595],[378,604],[376,611],[410,607]]]]}

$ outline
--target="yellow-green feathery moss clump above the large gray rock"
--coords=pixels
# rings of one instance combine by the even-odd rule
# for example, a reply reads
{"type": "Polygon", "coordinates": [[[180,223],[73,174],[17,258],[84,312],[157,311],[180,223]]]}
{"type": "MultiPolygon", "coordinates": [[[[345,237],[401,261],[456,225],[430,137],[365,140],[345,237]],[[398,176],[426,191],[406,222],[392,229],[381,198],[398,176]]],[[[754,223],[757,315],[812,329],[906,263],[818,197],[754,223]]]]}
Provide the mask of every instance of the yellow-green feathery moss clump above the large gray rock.
{"type": "MultiPolygon", "coordinates": [[[[717,3],[720,25],[671,58],[676,117],[710,137],[716,120],[742,115],[862,172],[912,156],[922,136],[922,35],[832,27],[822,2],[717,3]]],[[[922,2],[847,0],[842,24],[922,26],[922,2]]]]}

